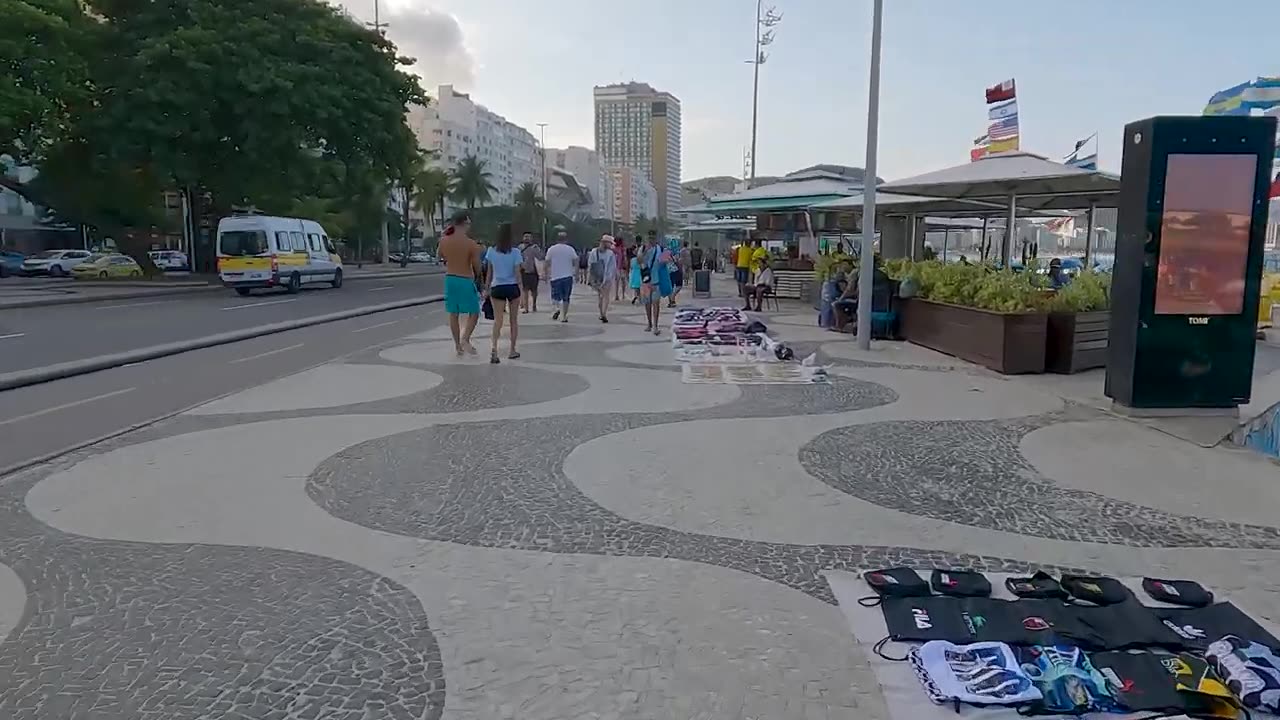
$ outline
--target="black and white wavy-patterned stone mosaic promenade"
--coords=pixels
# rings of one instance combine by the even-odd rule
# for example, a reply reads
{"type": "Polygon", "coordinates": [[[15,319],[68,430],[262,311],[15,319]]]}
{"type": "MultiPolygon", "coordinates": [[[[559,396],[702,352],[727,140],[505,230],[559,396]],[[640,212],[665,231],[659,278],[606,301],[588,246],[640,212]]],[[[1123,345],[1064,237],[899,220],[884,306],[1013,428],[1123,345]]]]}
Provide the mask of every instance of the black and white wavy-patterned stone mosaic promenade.
{"type": "Polygon", "coordinates": [[[517,361],[420,328],[0,480],[0,716],[887,717],[827,569],[1194,578],[1280,620],[1267,460],[812,313],[768,322],[831,384],[684,384],[579,304],[517,361]]]}

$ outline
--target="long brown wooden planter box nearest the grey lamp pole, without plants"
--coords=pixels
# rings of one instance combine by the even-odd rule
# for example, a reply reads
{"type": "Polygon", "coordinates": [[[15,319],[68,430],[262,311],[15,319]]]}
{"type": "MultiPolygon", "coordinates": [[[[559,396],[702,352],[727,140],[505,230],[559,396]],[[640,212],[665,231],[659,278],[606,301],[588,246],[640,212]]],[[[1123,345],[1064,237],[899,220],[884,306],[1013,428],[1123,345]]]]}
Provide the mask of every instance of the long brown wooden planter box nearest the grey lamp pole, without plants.
{"type": "Polygon", "coordinates": [[[992,313],[918,297],[901,302],[902,336],[915,345],[1009,375],[1044,372],[1043,313],[992,313]]]}

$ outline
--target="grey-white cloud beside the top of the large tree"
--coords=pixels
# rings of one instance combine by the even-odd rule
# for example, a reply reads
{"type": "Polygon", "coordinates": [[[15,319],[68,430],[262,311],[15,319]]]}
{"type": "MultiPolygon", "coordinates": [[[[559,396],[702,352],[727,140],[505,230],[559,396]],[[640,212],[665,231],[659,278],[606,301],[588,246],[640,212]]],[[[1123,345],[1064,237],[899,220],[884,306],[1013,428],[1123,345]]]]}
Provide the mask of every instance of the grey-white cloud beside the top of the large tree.
{"type": "MultiPolygon", "coordinates": [[[[372,3],[339,0],[338,4],[366,22],[372,20],[372,3]]],[[[434,95],[438,85],[456,85],[460,90],[474,86],[477,64],[457,18],[416,3],[387,5],[380,17],[387,23],[387,37],[401,55],[413,58],[410,70],[422,78],[429,92],[434,95]]]]}

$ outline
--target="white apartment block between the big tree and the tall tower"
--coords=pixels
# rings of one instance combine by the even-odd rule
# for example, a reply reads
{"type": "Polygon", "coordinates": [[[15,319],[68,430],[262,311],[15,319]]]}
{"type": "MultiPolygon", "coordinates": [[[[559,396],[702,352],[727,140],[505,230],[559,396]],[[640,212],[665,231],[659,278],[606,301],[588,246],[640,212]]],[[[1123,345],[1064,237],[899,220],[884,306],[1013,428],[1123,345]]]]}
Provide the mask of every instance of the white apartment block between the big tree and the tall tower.
{"type": "Polygon", "coordinates": [[[541,184],[534,133],[477,105],[452,85],[442,85],[426,108],[411,108],[408,126],[419,145],[436,152],[433,165],[452,170],[467,155],[484,160],[497,188],[492,205],[512,205],[516,190],[526,182],[541,184]]]}

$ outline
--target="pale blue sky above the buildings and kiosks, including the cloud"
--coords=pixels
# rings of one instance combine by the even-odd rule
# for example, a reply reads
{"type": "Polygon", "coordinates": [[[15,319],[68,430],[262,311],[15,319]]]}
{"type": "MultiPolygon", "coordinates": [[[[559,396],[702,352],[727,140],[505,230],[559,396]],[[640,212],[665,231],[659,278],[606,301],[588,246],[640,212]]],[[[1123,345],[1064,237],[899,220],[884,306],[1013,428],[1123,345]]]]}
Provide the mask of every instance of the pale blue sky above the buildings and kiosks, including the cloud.
{"type": "MultiPolygon", "coordinates": [[[[375,0],[338,1],[372,19],[375,0]]],[[[756,173],[863,167],[872,0],[772,5],[756,173]]],[[[742,174],[751,0],[381,0],[381,19],[431,95],[452,83],[531,131],[548,123],[548,146],[593,146],[593,86],[640,81],[681,101],[686,181],[742,174]]],[[[883,27],[888,179],[968,161],[983,90],[1009,78],[1023,150],[1061,160],[1098,132],[1101,168],[1119,172],[1125,123],[1280,76],[1280,0],[884,0],[883,27]]]]}

